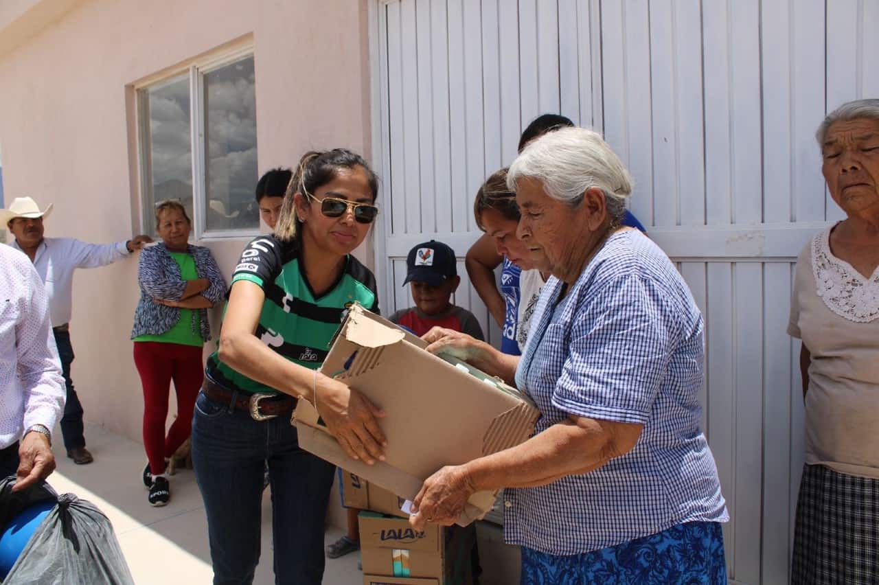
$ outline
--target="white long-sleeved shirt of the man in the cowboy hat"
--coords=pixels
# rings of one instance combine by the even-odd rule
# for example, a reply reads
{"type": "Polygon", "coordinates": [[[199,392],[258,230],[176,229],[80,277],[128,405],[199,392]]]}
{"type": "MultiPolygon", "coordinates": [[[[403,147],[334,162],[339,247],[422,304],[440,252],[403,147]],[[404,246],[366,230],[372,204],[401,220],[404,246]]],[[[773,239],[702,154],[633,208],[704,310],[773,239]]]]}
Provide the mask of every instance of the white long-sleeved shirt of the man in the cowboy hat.
{"type": "MultiPolygon", "coordinates": [[[[128,256],[126,242],[90,244],[73,238],[43,238],[33,265],[37,269],[49,298],[52,327],[70,322],[73,313],[73,271],[98,268],[128,256]]],[[[18,247],[13,241],[12,248],[18,247]]]]}

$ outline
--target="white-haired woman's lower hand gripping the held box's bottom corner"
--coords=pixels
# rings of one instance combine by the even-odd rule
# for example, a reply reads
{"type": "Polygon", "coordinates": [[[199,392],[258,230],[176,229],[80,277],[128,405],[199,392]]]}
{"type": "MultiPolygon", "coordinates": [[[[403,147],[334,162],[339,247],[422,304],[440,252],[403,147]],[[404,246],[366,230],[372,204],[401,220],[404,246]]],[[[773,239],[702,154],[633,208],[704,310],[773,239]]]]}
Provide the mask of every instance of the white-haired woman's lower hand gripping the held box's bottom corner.
{"type": "Polygon", "coordinates": [[[421,486],[412,501],[409,524],[417,531],[423,531],[428,522],[451,526],[475,491],[464,466],[445,466],[421,486]]]}

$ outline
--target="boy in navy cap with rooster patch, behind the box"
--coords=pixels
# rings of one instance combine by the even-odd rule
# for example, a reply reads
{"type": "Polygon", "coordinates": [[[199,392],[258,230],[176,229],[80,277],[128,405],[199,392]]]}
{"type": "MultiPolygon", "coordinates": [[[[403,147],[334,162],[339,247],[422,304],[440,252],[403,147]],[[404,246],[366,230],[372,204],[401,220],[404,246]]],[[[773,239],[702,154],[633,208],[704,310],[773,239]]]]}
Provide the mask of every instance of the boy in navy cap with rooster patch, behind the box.
{"type": "Polygon", "coordinates": [[[461,331],[483,340],[479,321],[467,309],[453,305],[449,299],[461,284],[454,250],[442,242],[420,243],[406,258],[406,279],[415,307],[397,311],[390,321],[423,336],[433,327],[461,331]]]}

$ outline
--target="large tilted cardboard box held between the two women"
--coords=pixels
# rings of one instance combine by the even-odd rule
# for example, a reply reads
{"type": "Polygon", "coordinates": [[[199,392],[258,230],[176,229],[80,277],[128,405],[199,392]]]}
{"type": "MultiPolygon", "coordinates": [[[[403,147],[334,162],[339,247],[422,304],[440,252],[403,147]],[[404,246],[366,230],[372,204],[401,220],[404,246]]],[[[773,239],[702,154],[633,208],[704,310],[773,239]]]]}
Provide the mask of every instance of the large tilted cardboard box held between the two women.
{"type": "MultiPolygon", "coordinates": [[[[355,387],[382,408],[386,461],[351,459],[299,401],[295,425],[306,451],[411,500],[442,466],[461,465],[526,441],[540,416],[518,390],[455,358],[425,351],[426,343],[390,321],[352,305],[321,372],[355,387]]],[[[461,526],[491,509],[496,492],[477,492],[461,526]]]]}

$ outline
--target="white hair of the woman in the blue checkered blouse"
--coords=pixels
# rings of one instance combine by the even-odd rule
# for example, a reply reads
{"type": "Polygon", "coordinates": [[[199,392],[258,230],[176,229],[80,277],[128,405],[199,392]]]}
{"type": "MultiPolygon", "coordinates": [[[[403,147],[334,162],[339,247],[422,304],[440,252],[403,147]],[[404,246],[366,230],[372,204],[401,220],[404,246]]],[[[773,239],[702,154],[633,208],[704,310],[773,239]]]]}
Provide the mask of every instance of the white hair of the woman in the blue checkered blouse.
{"type": "Polygon", "coordinates": [[[586,128],[560,128],[525,147],[507,171],[506,184],[516,191],[521,178],[543,184],[549,197],[576,207],[585,191],[604,191],[607,213],[620,221],[632,193],[632,177],[601,134],[586,128]]]}

